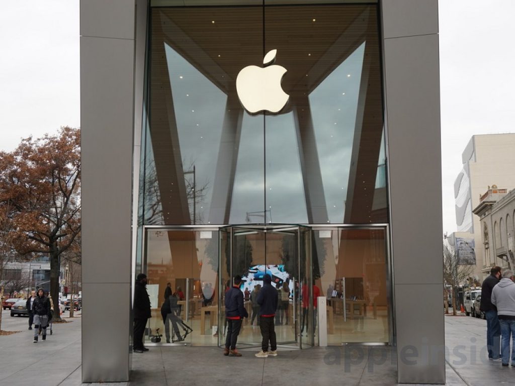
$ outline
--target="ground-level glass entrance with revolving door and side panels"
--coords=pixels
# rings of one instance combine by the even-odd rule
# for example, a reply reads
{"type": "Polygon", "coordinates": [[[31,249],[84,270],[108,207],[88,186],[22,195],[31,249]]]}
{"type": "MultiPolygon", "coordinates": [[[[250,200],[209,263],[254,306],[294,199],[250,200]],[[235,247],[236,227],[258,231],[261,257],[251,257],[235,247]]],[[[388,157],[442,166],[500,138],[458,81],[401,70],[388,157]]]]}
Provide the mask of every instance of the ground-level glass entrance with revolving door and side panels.
{"type": "Polygon", "coordinates": [[[329,344],[391,343],[386,226],[147,227],[142,268],[152,307],[147,344],[223,345],[224,295],[240,275],[249,318],[238,346],[259,346],[255,298],[265,274],[278,290],[279,346],[318,344],[318,296],[326,298],[329,344]],[[166,315],[170,293],[180,306],[174,319],[166,315]]]}

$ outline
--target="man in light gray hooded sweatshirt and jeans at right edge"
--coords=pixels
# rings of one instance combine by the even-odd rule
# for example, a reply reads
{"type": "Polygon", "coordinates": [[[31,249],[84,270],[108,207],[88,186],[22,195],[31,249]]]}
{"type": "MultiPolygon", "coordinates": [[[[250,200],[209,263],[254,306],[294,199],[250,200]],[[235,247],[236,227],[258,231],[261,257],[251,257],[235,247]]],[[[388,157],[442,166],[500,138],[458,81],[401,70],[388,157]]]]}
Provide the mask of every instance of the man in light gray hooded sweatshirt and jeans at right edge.
{"type": "Polygon", "coordinates": [[[497,307],[497,316],[501,324],[501,359],[503,366],[510,361],[510,336],[513,340],[511,365],[515,366],[515,283],[513,272],[503,271],[503,278],[493,287],[492,304],[497,307]]]}

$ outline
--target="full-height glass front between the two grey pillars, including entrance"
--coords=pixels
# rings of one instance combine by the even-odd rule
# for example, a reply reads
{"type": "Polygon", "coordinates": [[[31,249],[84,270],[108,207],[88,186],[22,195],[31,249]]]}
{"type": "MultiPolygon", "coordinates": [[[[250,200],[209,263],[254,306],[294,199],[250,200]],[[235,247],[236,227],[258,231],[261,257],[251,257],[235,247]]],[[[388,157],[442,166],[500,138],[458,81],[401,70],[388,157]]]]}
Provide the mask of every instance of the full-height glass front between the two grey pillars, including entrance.
{"type": "Polygon", "coordinates": [[[280,344],[317,344],[317,296],[330,344],[388,343],[377,7],[242,4],[150,9],[136,255],[147,339],[159,328],[163,342],[223,344],[223,295],[239,274],[250,315],[239,343],[259,345],[251,293],[270,273],[280,344]],[[259,90],[236,79],[252,65],[286,69],[278,113],[244,107],[259,90]],[[180,321],[161,314],[168,287],[183,294],[180,321]]]}

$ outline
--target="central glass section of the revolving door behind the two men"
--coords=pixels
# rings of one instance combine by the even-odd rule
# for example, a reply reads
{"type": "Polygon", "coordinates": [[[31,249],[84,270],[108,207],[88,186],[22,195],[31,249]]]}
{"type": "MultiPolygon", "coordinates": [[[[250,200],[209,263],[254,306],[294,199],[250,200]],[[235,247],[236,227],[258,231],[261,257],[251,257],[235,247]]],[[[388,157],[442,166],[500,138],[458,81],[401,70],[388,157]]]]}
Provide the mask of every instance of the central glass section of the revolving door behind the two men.
{"type": "Polygon", "coordinates": [[[300,310],[300,303],[296,303],[300,294],[298,234],[298,226],[232,227],[232,274],[243,278],[240,288],[249,313],[238,336],[238,344],[260,345],[260,307],[256,300],[264,285],[263,277],[269,274],[272,286],[278,291],[278,309],[274,318],[277,343],[297,345],[300,310]]]}

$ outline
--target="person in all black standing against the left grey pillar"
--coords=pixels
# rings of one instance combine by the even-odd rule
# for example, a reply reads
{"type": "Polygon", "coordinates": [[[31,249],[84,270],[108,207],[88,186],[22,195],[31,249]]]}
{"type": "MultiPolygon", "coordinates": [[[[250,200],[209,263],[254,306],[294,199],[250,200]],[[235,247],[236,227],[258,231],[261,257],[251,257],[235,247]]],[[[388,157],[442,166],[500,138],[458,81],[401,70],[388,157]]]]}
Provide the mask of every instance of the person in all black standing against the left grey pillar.
{"type": "Polygon", "coordinates": [[[143,353],[148,351],[148,348],[143,346],[143,334],[147,319],[151,317],[150,313],[150,297],[148,296],[147,289],[147,275],[140,273],[136,278],[134,286],[134,353],[143,353]]]}

